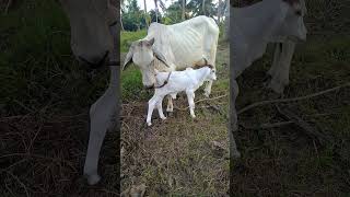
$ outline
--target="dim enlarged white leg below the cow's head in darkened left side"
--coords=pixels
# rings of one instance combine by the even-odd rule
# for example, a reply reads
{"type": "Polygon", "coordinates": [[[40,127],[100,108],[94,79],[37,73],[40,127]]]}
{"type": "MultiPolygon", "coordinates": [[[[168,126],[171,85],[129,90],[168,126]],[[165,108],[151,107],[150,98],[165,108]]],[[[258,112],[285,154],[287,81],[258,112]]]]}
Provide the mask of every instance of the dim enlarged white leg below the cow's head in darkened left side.
{"type": "Polygon", "coordinates": [[[107,129],[114,126],[117,113],[116,90],[108,88],[90,108],[90,138],[85,158],[84,175],[88,183],[94,185],[101,179],[97,173],[100,150],[107,129]]]}

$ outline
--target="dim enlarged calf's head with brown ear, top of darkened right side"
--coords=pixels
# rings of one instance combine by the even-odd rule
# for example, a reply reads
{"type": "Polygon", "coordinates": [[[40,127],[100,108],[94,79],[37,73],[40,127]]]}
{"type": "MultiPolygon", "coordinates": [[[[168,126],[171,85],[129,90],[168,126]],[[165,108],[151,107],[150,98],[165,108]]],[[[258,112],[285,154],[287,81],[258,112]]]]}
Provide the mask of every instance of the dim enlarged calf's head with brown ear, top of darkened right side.
{"type": "Polygon", "coordinates": [[[277,34],[293,40],[306,40],[304,15],[306,5],[304,0],[281,0],[282,21],[277,34]]]}

